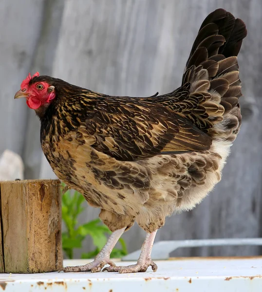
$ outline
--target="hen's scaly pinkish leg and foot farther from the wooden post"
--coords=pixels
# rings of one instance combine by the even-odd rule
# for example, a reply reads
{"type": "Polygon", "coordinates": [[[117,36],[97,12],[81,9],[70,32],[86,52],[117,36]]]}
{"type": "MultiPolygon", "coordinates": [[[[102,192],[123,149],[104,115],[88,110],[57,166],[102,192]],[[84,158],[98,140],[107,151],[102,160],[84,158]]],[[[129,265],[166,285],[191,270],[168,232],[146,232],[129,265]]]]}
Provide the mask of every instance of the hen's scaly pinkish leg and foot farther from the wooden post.
{"type": "Polygon", "coordinates": [[[135,265],[130,266],[111,266],[103,269],[108,272],[119,272],[119,273],[137,273],[137,272],[146,272],[148,267],[151,266],[153,272],[156,272],[157,265],[151,260],[151,251],[156,235],[156,231],[153,233],[147,233],[146,239],[141,248],[141,254],[138,258],[138,261],[135,265]]]}

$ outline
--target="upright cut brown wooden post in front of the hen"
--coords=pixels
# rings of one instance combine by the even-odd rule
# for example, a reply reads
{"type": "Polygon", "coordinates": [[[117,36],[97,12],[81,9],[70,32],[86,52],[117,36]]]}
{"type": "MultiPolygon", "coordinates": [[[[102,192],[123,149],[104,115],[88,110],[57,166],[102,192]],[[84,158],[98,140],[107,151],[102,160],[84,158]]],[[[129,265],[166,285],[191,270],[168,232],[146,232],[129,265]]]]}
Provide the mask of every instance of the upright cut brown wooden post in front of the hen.
{"type": "Polygon", "coordinates": [[[5,273],[62,268],[59,185],[58,180],[0,183],[5,273]]]}

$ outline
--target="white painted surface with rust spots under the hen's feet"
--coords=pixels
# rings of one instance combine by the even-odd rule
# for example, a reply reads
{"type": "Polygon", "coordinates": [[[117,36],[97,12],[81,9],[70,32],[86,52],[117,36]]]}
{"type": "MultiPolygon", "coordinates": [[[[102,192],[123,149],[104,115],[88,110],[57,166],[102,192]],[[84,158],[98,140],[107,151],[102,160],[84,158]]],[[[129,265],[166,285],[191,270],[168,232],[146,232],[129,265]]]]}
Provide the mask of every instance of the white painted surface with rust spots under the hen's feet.
{"type": "MultiPolygon", "coordinates": [[[[64,265],[86,262],[65,260],[64,265]]],[[[156,273],[149,269],[136,274],[0,274],[0,287],[4,292],[261,292],[262,289],[262,257],[181,258],[157,261],[157,265],[156,273]]]]}

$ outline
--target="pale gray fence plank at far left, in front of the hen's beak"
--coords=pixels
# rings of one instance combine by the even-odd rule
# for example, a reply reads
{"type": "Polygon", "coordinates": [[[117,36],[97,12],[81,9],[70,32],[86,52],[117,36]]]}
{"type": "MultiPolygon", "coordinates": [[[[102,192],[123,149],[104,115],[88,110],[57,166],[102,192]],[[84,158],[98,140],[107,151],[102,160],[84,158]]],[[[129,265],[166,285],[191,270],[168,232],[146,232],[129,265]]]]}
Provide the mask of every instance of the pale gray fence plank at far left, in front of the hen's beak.
{"type": "Polygon", "coordinates": [[[6,148],[22,154],[27,110],[14,101],[27,76],[39,37],[43,1],[0,1],[0,153],[6,148]]]}

